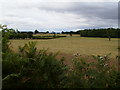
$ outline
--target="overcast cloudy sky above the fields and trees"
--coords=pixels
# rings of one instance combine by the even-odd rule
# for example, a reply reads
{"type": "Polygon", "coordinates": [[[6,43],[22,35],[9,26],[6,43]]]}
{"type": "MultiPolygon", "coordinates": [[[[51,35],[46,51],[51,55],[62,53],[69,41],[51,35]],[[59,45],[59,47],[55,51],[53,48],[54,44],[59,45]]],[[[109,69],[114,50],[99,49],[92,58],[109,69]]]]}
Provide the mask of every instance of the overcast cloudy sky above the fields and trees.
{"type": "Polygon", "coordinates": [[[118,27],[118,0],[0,0],[0,13],[0,24],[19,31],[118,27]]]}

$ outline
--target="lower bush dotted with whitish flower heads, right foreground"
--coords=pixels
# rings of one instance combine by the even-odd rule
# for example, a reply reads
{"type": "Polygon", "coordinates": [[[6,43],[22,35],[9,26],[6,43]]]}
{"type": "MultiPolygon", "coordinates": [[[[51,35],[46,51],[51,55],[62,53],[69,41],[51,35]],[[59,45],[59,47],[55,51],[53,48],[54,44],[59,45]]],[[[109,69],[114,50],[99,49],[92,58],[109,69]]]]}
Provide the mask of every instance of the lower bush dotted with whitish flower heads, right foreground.
{"type": "Polygon", "coordinates": [[[88,63],[86,59],[75,58],[74,68],[69,72],[67,88],[118,88],[119,72],[109,65],[109,55],[93,56],[95,62],[88,63]]]}

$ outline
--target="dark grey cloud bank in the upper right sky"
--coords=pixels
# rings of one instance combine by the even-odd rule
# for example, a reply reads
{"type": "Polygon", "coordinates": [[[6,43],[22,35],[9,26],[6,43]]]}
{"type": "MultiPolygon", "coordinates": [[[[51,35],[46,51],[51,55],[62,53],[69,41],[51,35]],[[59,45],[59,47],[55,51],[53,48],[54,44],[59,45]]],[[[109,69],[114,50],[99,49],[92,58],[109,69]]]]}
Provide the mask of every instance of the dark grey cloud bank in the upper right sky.
{"type": "Polygon", "coordinates": [[[118,4],[115,2],[74,2],[69,3],[70,7],[66,8],[57,8],[57,6],[64,6],[65,2],[63,3],[52,3],[53,7],[49,6],[39,6],[37,5],[38,9],[43,9],[46,11],[54,11],[60,13],[74,13],[80,14],[86,17],[99,17],[103,19],[118,19],[118,4]],[[55,7],[54,7],[55,6],[55,7]]]}

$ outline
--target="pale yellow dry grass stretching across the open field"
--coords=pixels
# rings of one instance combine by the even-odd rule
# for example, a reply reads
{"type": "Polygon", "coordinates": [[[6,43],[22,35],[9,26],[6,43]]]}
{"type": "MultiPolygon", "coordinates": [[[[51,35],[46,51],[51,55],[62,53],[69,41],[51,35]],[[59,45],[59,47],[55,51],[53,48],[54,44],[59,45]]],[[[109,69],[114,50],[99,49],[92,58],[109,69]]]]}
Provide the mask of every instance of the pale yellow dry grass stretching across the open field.
{"type": "Polygon", "coordinates": [[[112,38],[87,38],[75,36],[67,36],[51,40],[10,40],[12,49],[18,51],[18,46],[23,46],[28,41],[37,41],[38,49],[49,49],[50,52],[64,54],[80,53],[81,55],[105,55],[111,53],[112,57],[118,55],[118,39],[112,38]]]}

